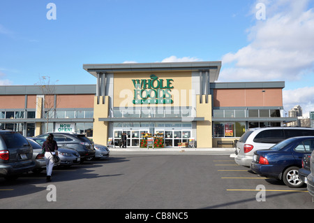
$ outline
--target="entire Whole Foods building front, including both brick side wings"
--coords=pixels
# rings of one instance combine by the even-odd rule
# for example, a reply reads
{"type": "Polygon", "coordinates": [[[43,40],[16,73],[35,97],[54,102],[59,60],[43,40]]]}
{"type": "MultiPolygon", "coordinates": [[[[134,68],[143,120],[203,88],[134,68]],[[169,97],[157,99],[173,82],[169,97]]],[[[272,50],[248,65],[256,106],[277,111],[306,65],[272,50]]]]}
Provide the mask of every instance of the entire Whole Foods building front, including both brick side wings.
{"type": "Polygon", "coordinates": [[[143,133],[165,147],[193,138],[197,148],[234,141],[248,128],[283,126],[285,82],[217,82],[221,62],[84,64],[96,85],[1,86],[2,129],[87,134],[95,143],[139,147],[143,133]],[[50,102],[50,103],[47,103],[50,102]],[[50,106],[48,106],[50,105],[50,106]],[[48,118],[47,118],[48,117],[48,118]]]}

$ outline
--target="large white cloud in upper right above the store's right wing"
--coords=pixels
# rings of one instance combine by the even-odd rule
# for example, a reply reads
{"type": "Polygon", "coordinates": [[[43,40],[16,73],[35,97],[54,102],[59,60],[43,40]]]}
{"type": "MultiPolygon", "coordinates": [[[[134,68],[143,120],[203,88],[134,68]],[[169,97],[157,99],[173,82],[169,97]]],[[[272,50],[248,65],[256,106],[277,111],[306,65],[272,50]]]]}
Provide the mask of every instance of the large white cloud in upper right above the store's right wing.
{"type": "Polygon", "coordinates": [[[295,80],[313,71],[314,10],[304,10],[308,1],[264,2],[266,20],[248,29],[250,44],[223,56],[223,64],[234,67],[223,68],[220,80],[295,80]]]}

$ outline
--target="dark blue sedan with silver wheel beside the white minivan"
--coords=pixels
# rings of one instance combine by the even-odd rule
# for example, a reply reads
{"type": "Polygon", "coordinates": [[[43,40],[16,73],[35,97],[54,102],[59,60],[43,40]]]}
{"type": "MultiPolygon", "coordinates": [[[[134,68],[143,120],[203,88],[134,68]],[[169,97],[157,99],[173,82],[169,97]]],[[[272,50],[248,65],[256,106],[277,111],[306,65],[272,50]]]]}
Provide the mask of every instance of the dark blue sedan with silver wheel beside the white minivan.
{"type": "Polygon", "coordinates": [[[288,138],[269,148],[254,152],[251,170],[267,178],[283,180],[288,187],[302,187],[299,178],[301,159],[314,150],[314,136],[288,138]]]}

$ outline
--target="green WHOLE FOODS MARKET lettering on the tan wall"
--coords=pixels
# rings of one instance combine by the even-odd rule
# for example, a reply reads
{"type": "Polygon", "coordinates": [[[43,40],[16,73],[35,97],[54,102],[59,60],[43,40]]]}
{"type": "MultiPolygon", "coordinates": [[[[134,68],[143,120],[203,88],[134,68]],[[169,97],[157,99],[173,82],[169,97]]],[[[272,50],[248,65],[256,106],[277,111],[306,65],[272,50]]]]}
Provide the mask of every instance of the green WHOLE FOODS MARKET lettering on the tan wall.
{"type": "Polygon", "coordinates": [[[173,103],[171,99],[172,79],[159,79],[152,74],[150,79],[132,80],[134,104],[173,103]]]}

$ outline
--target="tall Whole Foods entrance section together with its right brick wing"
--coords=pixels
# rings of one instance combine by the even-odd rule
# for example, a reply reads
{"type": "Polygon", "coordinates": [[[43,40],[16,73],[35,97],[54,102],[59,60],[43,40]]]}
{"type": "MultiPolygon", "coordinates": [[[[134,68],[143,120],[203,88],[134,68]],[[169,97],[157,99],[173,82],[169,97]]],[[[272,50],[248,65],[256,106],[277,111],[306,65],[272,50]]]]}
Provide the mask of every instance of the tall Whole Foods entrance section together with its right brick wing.
{"type": "Polygon", "coordinates": [[[197,148],[212,148],[239,138],[251,122],[285,122],[284,82],[216,82],[220,67],[221,62],[84,64],[97,79],[93,140],[119,145],[126,133],[127,146],[144,147],[142,139],[151,134],[165,147],[192,140],[197,148]],[[249,117],[253,110],[257,117],[249,117]]]}

